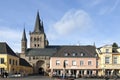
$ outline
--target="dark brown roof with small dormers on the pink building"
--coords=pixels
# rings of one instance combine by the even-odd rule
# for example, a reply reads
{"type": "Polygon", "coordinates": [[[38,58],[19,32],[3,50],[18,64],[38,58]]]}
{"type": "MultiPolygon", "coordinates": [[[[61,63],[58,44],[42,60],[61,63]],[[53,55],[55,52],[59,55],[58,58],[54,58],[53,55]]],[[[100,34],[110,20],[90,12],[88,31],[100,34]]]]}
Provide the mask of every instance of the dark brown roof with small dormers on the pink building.
{"type": "Polygon", "coordinates": [[[96,57],[96,55],[94,46],[62,46],[52,57],[96,57]]]}

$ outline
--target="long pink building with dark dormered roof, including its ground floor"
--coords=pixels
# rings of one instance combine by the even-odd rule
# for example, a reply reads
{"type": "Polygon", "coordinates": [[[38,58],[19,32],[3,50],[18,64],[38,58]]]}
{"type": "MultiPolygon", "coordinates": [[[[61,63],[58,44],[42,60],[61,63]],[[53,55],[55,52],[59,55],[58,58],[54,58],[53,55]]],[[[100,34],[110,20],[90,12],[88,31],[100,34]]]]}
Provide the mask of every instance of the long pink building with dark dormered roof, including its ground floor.
{"type": "Polygon", "coordinates": [[[50,59],[55,76],[97,75],[97,53],[94,46],[61,46],[50,59]]]}

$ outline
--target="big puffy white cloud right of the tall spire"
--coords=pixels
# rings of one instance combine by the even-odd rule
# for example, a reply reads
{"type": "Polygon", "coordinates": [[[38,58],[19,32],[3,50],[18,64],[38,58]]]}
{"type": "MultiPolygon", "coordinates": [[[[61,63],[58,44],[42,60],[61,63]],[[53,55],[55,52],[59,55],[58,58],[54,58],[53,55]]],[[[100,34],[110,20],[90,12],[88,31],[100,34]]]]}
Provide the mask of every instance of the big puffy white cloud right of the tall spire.
{"type": "Polygon", "coordinates": [[[93,22],[88,13],[72,9],[50,27],[48,35],[53,39],[58,36],[73,35],[89,29],[92,25],[93,22]]]}

